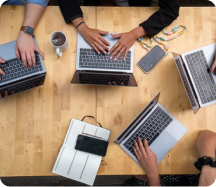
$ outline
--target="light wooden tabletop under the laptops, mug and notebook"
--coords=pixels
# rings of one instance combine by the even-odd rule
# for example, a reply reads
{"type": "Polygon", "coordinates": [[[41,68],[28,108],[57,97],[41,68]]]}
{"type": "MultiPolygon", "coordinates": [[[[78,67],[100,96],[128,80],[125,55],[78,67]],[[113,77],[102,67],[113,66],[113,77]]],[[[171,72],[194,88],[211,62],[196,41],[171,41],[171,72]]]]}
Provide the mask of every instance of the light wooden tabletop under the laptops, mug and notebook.
{"type": "MultiPolygon", "coordinates": [[[[158,8],[83,7],[89,27],[126,32],[137,27],[158,8]]],[[[24,16],[23,6],[0,7],[0,43],[17,39],[24,16]]],[[[216,41],[216,8],[181,8],[180,16],[167,30],[185,24],[187,32],[170,41],[170,51],[183,53],[216,41]]],[[[180,31],[181,29],[179,29],[180,31]]],[[[52,168],[71,118],[93,115],[111,129],[110,144],[98,174],[143,174],[114,139],[151,98],[161,91],[162,104],[187,129],[187,134],[159,164],[161,174],[193,174],[198,158],[196,138],[203,129],[216,131],[216,105],[194,115],[171,53],[149,74],[136,62],[146,51],[135,43],[134,75],[138,87],[71,85],[75,71],[77,31],[65,24],[58,7],[47,7],[35,35],[45,54],[45,84],[0,100],[0,176],[53,175],[52,168]],[[57,58],[49,37],[63,31],[69,49],[57,58]]],[[[161,33],[159,35],[162,35],[161,33]]],[[[146,37],[146,41],[149,41],[146,37]]],[[[94,121],[88,121],[94,123],[94,121]]]]}

